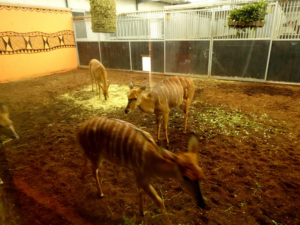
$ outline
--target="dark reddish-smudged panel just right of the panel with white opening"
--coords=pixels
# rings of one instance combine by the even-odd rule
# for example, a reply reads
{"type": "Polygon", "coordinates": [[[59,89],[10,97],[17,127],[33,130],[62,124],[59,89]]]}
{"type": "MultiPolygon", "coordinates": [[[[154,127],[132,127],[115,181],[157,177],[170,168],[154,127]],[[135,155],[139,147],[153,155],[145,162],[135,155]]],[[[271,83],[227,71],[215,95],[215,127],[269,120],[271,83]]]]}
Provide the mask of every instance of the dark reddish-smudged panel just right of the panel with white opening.
{"type": "Polygon", "coordinates": [[[166,41],[166,72],[208,75],[210,41],[166,41]]]}

